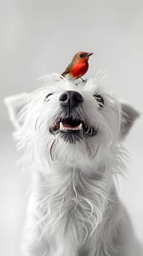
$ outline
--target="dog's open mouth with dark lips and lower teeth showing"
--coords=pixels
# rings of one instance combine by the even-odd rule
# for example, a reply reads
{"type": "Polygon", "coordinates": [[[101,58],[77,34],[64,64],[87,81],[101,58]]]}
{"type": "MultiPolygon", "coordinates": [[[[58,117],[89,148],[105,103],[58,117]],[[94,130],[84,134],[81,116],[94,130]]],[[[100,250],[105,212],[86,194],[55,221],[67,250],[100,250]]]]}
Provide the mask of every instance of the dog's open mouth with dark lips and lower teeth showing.
{"type": "Polygon", "coordinates": [[[52,134],[69,134],[69,135],[79,135],[80,138],[90,137],[96,135],[98,129],[90,126],[88,122],[82,121],[80,119],[74,118],[59,118],[54,121],[53,127],[50,127],[50,132],[52,134]]]}

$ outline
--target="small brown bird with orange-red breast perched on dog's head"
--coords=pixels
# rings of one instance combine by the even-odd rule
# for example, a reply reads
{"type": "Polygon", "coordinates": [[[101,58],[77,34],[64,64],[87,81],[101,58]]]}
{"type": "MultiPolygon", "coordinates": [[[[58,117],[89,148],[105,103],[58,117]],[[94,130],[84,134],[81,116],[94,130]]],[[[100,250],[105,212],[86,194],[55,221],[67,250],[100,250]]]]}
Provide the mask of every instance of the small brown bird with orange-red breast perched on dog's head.
{"type": "Polygon", "coordinates": [[[88,71],[88,59],[93,53],[87,53],[81,51],[76,53],[71,63],[66,67],[65,71],[61,74],[63,77],[69,80],[76,80],[81,78],[82,75],[88,71]]]}

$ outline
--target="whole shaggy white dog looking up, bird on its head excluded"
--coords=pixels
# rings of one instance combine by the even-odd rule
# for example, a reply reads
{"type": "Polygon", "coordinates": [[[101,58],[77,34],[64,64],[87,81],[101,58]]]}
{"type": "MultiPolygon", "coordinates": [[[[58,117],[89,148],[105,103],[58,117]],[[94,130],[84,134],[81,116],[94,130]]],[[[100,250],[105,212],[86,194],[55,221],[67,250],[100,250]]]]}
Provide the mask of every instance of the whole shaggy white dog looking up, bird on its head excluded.
{"type": "Polygon", "coordinates": [[[6,104],[34,179],[23,255],[143,255],[115,188],[124,168],[120,141],[136,110],[96,79],[76,84],[60,75],[6,104]]]}

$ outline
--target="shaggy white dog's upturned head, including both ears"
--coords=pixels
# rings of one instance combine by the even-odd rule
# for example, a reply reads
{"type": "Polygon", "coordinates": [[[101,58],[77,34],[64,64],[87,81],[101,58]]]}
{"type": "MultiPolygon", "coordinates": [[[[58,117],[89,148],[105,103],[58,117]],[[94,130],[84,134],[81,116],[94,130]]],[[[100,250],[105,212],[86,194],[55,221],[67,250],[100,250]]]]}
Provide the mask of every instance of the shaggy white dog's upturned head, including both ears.
{"type": "Polygon", "coordinates": [[[97,86],[96,80],[76,84],[58,75],[47,77],[47,86],[5,102],[18,146],[40,165],[112,161],[139,115],[97,86]]]}

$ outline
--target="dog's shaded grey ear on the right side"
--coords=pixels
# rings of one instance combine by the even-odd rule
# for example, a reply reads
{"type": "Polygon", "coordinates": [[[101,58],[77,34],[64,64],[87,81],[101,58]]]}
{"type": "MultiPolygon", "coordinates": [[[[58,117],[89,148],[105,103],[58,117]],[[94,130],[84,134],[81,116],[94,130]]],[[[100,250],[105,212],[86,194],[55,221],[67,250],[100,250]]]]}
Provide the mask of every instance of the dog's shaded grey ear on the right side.
{"type": "Polygon", "coordinates": [[[139,117],[139,112],[125,102],[120,103],[122,108],[120,138],[123,140],[134,124],[136,118],[139,117]]]}

